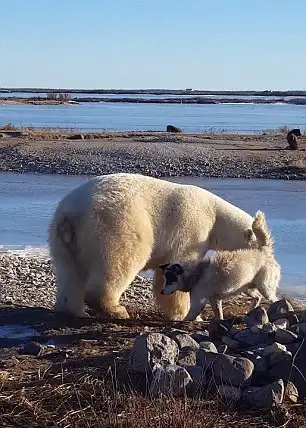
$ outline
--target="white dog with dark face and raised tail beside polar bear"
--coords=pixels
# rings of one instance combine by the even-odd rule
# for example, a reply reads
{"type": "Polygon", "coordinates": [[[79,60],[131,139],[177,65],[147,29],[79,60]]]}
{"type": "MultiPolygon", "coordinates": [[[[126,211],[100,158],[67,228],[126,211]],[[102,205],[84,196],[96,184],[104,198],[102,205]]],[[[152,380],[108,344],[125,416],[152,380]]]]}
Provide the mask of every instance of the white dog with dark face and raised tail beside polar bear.
{"type": "Polygon", "coordinates": [[[208,300],[215,316],[223,319],[222,300],[241,293],[254,298],[254,307],[260,304],[262,296],[269,302],[276,301],[281,268],[274,257],[272,236],[261,211],[256,213],[252,229],[258,248],[217,251],[206,260],[162,266],[165,275],[162,294],[190,291],[190,310],[185,320],[194,320],[208,300]],[[167,273],[172,275],[168,279],[167,273]]]}

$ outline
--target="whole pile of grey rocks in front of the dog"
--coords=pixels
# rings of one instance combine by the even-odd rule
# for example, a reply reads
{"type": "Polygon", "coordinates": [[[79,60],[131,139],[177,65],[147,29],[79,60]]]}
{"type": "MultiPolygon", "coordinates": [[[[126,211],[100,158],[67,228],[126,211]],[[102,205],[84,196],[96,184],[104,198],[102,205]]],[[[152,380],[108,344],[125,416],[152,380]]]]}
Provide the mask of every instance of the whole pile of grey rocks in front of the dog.
{"type": "Polygon", "coordinates": [[[306,397],[306,310],[285,300],[245,317],[212,320],[188,334],[168,329],[138,336],[129,369],[146,376],[152,395],[203,395],[271,409],[306,397]],[[243,325],[244,324],[244,325],[243,325]],[[244,327],[244,328],[243,328],[244,327]]]}

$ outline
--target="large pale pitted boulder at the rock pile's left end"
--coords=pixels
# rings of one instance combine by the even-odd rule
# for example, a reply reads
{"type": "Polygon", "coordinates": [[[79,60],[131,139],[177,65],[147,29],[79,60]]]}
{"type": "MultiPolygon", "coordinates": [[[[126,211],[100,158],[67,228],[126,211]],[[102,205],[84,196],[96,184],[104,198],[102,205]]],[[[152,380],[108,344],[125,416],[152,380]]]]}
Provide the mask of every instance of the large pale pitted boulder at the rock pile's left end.
{"type": "Polygon", "coordinates": [[[130,352],[129,367],[133,371],[147,373],[156,364],[174,364],[178,356],[177,343],[165,334],[142,334],[136,337],[130,352]]]}

